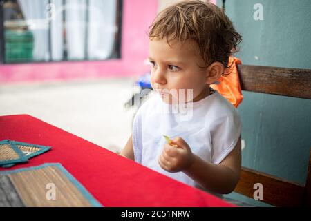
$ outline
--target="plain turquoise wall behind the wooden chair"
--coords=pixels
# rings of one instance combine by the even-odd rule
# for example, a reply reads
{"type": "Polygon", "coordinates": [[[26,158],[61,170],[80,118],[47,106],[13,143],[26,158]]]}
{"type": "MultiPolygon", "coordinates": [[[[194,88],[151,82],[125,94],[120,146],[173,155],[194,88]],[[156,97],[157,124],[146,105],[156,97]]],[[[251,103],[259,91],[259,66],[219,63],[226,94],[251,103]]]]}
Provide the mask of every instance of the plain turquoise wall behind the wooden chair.
{"type": "MultiPolygon", "coordinates": [[[[226,1],[226,13],[243,35],[236,54],[243,64],[311,69],[310,0],[231,0],[226,1]],[[263,6],[262,21],[253,18],[256,3],[263,6]]],[[[238,107],[245,140],[243,166],[304,184],[311,148],[311,100],[245,91],[243,95],[238,107]]],[[[227,196],[265,205],[236,193],[227,196]]]]}

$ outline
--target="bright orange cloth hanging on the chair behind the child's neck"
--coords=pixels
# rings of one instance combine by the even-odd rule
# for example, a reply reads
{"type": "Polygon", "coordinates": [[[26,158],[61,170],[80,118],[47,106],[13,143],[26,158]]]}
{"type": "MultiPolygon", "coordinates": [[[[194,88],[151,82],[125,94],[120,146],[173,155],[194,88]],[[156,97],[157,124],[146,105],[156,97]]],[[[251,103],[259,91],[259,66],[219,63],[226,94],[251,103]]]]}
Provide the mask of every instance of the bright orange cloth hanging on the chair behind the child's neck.
{"type": "Polygon", "coordinates": [[[220,84],[211,84],[211,88],[217,90],[220,95],[223,95],[236,108],[243,100],[240,79],[238,77],[238,64],[242,64],[241,60],[236,57],[229,57],[228,66],[225,69],[227,76],[221,76],[218,81],[220,84]]]}

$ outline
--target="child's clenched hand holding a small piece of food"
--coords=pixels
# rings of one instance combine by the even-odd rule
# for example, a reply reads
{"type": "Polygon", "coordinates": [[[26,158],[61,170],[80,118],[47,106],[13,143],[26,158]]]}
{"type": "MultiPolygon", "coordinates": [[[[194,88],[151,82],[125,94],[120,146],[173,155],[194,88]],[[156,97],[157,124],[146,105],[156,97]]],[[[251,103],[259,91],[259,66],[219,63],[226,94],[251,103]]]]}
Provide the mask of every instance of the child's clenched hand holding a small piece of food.
{"type": "Polygon", "coordinates": [[[172,173],[187,169],[194,162],[194,154],[189,145],[181,137],[171,140],[171,144],[176,144],[177,147],[164,144],[163,151],[158,158],[160,166],[172,173]]]}

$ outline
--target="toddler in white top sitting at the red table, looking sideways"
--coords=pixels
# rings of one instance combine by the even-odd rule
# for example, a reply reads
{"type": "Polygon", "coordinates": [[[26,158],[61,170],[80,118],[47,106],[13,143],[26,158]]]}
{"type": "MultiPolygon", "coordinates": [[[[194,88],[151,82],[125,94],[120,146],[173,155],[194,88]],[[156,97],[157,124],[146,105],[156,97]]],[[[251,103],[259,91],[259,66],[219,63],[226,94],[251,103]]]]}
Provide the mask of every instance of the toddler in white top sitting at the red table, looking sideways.
{"type": "Polygon", "coordinates": [[[149,29],[156,95],[136,113],[121,155],[209,193],[234,191],[241,170],[241,119],[209,85],[228,68],[240,41],[212,3],[182,1],[162,10],[149,29]]]}

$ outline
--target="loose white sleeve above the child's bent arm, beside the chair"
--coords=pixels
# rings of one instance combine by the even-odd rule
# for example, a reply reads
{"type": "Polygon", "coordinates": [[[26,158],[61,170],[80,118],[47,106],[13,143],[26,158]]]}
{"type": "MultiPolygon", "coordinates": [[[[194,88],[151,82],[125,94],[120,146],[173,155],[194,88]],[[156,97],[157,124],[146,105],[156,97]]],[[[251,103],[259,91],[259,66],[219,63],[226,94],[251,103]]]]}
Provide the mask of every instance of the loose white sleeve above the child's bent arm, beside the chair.
{"type": "Polygon", "coordinates": [[[220,164],[234,149],[241,128],[241,119],[236,110],[214,122],[211,129],[211,163],[220,164]]]}

